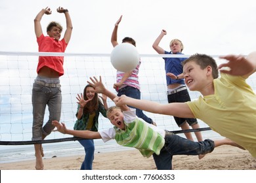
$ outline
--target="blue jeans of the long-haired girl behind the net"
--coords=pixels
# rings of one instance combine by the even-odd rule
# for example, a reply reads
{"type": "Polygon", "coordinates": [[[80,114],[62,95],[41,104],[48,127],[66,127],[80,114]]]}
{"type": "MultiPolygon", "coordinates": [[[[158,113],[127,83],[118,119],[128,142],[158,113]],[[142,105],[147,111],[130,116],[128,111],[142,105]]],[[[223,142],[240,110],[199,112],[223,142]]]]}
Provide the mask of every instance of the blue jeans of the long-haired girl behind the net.
{"type": "Polygon", "coordinates": [[[93,159],[95,158],[95,143],[93,139],[79,140],[78,142],[85,148],[85,159],[80,170],[92,170],[93,159]]]}

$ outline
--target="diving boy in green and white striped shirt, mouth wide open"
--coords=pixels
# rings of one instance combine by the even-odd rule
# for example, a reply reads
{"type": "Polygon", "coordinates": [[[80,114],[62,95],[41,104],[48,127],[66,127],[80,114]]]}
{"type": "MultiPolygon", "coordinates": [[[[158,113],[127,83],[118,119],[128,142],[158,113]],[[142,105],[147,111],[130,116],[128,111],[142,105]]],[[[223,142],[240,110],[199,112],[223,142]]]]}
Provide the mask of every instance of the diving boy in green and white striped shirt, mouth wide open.
{"type": "MultiPolygon", "coordinates": [[[[104,87],[101,77],[99,81],[95,77],[91,78],[91,81],[88,83],[95,88],[96,93],[103,93],[114,100],[116,95],[104,87]]],[[[161,170],[172,169],[173,155],[207,154],[212,152],[215,147],[223,144],[236,146],[230,139],[217,141],[206,139],[202,142],[189,141],[179,135],[144,122],[136,116],[135,109],[129,108],[127,105],[110,107],[107,116],[114,127],[102,131],[66,129],[64,123],[60,124],[57,121],[53,121],[53,125],[64,134],[85,139],[102,139],[104,142],[115,139],[117,144],[121,146],[137,148],[142,156],[146,158],[153,155],[156,167],[161,170]]]]}

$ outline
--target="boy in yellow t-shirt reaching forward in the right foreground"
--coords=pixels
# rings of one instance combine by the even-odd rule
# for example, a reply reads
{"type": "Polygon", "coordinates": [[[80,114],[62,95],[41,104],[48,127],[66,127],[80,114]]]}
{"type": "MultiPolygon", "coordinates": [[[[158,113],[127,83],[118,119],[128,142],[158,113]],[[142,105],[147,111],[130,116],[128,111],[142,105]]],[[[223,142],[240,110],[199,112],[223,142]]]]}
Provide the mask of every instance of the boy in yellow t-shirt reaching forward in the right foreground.
{"type": "Polygon", "coordinates": [[[202,96],[186,103],[160,104],[122,95],[114,99],[116,105],[131,105],[148,112],[198,118],[217,133],[231,139],[256,157],[256,95],[245,79],[255,73],[256,52],[246,58],[228,55],[219,65],[205,54],[195,54],[183,65],[185,83],[190,91],[202,96]],[[223,67],[229,67],[224,70],[223,67]],[[218,78],[218,69],[221,77],[218,78]]]}

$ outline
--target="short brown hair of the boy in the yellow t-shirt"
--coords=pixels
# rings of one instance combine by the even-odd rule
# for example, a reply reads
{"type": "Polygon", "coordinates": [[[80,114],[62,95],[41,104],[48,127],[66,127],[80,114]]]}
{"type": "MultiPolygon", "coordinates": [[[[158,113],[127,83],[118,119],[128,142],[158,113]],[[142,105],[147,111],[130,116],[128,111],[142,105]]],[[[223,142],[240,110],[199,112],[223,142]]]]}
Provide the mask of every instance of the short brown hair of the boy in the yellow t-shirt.
{"type": "Polygon", "coordinates": [[[182,66],[184,66],[186,63],[190,61],[194,61],[196,64],[200,65],[200,69],[205,69],[207,66],[210,66],[212,69],[213,78],[218,78],[218,66],[215,59],[213,59],[211,56],[207,56],[205,54],[194,54],[190,56],[188,59],[182,61],[182,66]]]}

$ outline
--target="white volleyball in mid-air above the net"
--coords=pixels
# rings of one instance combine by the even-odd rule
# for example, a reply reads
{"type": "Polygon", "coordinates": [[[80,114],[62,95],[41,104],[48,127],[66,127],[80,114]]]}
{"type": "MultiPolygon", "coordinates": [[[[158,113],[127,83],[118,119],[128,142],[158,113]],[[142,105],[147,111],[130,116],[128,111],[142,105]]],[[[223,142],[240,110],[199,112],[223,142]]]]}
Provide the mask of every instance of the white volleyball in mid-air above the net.
{"type": "Polygon", "coordinates": [[[133,44],[117,44],[111,52],[110,60],[117,71],[127,72],[135,69],[139,63],[139,52],[133,44]]]}

